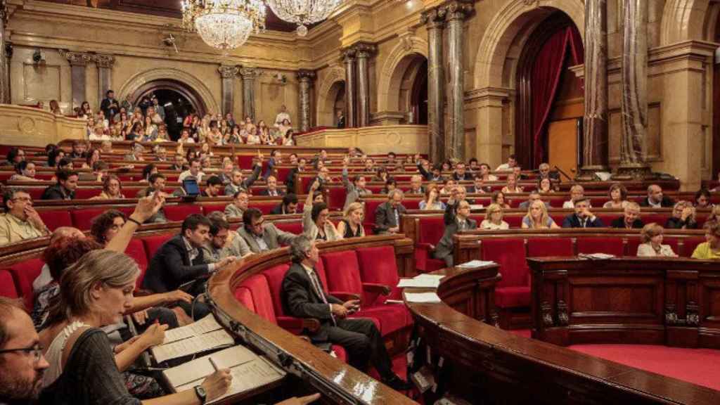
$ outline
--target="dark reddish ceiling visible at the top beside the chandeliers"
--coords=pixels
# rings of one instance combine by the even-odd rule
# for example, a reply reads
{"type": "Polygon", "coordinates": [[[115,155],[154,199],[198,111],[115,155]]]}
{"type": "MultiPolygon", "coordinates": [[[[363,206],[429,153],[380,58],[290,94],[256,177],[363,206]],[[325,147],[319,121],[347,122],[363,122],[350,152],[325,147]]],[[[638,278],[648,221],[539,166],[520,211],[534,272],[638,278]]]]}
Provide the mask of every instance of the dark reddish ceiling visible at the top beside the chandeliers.
{"type": "MultiPolygon", "coordinates": [[[[74,4],[76,6],[89,6],[100,9],[112,9],[121,12],[134,12],[142,14],[160,15],[163,17],[181,17],[181,0],[45,0],[60,4],[74,4]]],[[[268,8],[266,29],[274,31],[292,32],[296,25],[284,22],[276,17],[268,8]]]]}

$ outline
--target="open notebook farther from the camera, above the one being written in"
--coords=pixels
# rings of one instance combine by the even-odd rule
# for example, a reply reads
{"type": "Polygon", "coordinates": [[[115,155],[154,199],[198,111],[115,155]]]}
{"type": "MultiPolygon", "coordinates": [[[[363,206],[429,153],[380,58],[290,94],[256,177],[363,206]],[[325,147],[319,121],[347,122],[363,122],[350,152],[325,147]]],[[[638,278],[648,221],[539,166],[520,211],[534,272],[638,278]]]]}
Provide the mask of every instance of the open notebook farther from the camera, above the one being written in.
{"type": "Polygon", "coordinates": [[[235,339],[210,314],[192,324],[166,331],[163,344],[150,347],[150,352],[159,363],[233,344],[235,339]]]}

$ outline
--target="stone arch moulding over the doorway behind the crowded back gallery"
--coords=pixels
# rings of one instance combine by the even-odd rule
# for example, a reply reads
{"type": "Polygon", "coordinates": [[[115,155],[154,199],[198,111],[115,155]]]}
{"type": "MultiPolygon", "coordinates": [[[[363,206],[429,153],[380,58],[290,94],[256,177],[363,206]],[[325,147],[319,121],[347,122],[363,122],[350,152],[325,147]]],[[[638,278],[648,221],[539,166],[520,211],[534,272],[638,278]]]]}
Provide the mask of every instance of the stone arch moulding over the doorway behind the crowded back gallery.
{"type": "MultiPolygon", "coordinates": [[[[130,94],[131,97],[139,97],[140,93],[153,81],[167,84],[174,82],[180,86],[186,86],[188,91],[184,95],[189,94],[196,97],[206,112],[217,113],[220,111],[220,105],[217,104],[212,92],[201,80],[192,76],[192,74],[175,68],[153,68],[135,74],[120,87],[119,99],[125,99],[127,94],[130,94]]],[[[179,88],[176,90],[179,90],[179,88]]],[[[192,100],[192,97],[188,98],[192,100]]]]}

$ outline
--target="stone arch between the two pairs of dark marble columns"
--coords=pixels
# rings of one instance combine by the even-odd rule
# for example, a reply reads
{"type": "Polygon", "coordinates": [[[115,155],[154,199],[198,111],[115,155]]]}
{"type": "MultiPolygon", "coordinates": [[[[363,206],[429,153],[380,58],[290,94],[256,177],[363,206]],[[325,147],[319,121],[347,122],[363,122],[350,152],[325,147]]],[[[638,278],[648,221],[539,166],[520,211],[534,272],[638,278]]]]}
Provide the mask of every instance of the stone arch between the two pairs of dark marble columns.
{"type": "Polygon", "coordinates": [[[377,83],[377,111],[397,111],[402,76],[418,55],[428,58],[428,42],[420,37],[401,37],[390,50],[377,83]]]}

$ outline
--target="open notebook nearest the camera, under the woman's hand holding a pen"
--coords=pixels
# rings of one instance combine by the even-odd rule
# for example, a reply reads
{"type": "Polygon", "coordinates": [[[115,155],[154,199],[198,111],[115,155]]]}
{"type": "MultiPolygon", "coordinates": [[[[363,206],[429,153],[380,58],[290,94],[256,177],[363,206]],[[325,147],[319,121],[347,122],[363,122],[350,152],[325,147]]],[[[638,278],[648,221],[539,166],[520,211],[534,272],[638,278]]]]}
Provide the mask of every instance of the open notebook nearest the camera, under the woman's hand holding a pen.
{"type": "Polygon", "coordinates": [[[215,373],[210,357],[218,368],[229,368],[233,375],[233,382],[230,383],[228,393],[213,400],[210,404],[228,396],[252,391],[282,380],[286,375],[283,370],[276,368],[264,357],[238,345],[212,353],[212,355],[199,357],[174,368],[168,368],[163,371],[163,377],[175,392],[194,388],[202,383],[208,375],[215,373]]]}

